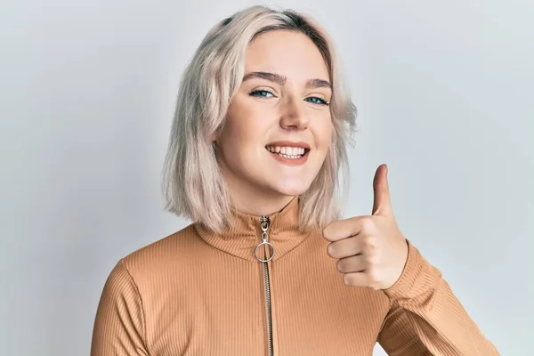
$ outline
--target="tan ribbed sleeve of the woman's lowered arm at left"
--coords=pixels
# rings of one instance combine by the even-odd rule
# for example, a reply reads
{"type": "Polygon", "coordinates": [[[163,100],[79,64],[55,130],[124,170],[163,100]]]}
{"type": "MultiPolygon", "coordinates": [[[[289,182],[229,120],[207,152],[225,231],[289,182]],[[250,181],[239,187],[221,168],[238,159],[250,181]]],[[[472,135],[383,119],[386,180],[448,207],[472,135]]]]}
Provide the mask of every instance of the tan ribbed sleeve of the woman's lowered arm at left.
{"type": "Polygon", "coordinates": [[[120,260],[104,285],[96,312],[91,356],[148,355],[142,299],[120,260]]]}

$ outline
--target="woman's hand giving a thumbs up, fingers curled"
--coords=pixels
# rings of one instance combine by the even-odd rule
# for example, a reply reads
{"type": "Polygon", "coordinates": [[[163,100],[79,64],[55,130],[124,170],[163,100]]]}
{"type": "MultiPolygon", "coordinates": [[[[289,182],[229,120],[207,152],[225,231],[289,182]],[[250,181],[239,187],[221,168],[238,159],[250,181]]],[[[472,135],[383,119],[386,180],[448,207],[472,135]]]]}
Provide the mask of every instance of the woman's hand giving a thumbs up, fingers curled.
{"type": "Polygon", "coordinates": [[[337,270],[349,286],[387,289],[401,277],[408,258],[408,244],[392,212],[387,166],[376,169],[371,215],[328,224],[323,237],[328,255],[338,259],[337,270]]]}

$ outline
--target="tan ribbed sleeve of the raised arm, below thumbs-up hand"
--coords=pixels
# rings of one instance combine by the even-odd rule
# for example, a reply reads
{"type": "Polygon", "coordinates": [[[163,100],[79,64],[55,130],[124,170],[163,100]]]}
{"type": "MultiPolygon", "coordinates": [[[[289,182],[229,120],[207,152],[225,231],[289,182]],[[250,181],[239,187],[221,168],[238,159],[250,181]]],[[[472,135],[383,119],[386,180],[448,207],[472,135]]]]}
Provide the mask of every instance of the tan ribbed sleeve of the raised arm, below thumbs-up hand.
{"type": "Polygon", "coordinates": [[[392,301],[378,336],[391,356],[494,356],[498,351],[452,293],[441,271],[409,245],[401,278],[384,290],[392,301]]]}

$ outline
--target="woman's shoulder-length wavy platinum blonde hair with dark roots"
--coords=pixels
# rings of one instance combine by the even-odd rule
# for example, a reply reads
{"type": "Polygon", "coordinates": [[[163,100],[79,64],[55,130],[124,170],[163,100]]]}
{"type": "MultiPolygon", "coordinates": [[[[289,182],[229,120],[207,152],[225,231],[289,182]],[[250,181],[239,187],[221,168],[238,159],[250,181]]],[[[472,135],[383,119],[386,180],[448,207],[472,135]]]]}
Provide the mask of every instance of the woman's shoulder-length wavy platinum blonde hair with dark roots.
{"type": "Polygon", "coordinates": [[[342,183],[346,188],[348,182],[345,143],[355,129],[356,107],[341,83],[336,52],[324,29],[302,13],[266,6],[248,7],[217,23],[184,71],[163,171],[167,211],[214,231],[229,227],[231,198],[212,141],[241,85],[248,44],[255,36],[276,29],[301,32],[312,39],[326,62],[333,87],[332,144],[309,190],[299,197],[300,225],[304,230],[322,228],[338,217],[338,193],[342,183]]]}

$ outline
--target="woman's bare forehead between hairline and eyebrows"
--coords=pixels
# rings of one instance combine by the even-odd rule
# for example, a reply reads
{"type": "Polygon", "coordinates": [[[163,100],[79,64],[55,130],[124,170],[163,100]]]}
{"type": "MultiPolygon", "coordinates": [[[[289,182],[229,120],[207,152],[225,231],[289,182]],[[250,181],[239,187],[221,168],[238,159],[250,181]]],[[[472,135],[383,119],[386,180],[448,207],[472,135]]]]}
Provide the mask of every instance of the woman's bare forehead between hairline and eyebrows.
{"type": "Polygon", "coordinates": [[[328,80],[328,69],[312,40],[295,31],[271,30],[248,45],[245,73],[264,71],[287,77],[288,83],[309,78],[328,80]]]}

